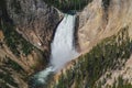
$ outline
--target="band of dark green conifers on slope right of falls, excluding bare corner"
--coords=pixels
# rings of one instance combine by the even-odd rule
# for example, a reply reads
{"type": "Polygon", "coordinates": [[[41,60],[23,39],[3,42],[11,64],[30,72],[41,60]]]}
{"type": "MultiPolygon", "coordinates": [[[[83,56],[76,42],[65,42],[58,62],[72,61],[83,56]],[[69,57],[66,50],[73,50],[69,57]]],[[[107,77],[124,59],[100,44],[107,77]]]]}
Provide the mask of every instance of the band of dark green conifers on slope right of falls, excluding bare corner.
{"type": "MultiPolygon", "coordinates": [[[[131,55],[132,41],[128,33],[129,26],[111,37],[97,44],[89,53],[79,56],[74,66],[62,72],[58,82],[53,88],[101,88],[102,84],[96,81],[107,72],[121,69],[131,55]]],[[[132,85],[118,78],[118,85],[108,88],[132,88],[132,85]]]]}

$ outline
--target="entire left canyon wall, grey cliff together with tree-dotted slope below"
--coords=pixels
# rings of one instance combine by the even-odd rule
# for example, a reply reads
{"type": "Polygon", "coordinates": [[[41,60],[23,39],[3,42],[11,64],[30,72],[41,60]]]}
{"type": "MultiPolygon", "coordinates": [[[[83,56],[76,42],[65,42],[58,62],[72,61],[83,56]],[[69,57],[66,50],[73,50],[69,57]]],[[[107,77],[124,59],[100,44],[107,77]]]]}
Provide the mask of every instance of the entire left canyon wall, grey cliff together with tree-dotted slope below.
{"type": "Polygon", "coordinates": [[[28,77],[48,62],[62,18],[43,0],[0,1],[0,87],[28,88],[28,77]]]}

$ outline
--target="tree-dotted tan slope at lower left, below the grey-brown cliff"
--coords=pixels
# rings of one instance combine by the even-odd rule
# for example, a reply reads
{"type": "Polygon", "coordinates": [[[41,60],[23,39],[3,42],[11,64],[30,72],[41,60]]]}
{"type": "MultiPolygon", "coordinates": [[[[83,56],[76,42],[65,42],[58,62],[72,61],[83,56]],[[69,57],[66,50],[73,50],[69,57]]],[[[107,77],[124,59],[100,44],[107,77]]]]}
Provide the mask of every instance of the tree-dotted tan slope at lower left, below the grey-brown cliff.
{"type": "Polygon", "coordinates": [[[0,24],[0,87],[28,88],[26,77],[46,65],[44,53],[23,38],[4,19],[0,24]]]}

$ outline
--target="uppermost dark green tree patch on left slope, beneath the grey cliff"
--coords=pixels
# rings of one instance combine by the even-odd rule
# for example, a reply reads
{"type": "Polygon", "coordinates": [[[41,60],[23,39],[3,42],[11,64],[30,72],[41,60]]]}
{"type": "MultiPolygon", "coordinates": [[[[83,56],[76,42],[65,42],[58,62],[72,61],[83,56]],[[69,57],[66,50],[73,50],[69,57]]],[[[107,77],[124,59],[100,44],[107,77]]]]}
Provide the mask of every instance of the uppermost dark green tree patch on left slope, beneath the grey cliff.
{"type": "Polygon", "coordinates": [[[33,51],[34,46],[24,40],[22,35],[14,30],[15,28],[12,24],[2,20],[1,25],[4,41],[13,54],[20,56],[20,52],[22,51],[24,55],[29,55],[33,51]]]}

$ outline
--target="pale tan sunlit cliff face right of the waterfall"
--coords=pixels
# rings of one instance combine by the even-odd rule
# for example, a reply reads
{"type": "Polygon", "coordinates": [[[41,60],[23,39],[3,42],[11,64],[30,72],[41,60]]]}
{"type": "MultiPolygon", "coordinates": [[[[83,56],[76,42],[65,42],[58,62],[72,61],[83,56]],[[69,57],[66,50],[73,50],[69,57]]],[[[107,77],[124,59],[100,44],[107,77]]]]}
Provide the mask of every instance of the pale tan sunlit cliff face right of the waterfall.
{"type": "Polygon", "coordinates": [[[99,40],[129,26],[132,36],[132,0],[94,0],[79,15],[78,44],[80,51],[99,40]],[[108,7],[103,4],[109,1],[108,7]]]}

